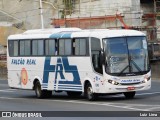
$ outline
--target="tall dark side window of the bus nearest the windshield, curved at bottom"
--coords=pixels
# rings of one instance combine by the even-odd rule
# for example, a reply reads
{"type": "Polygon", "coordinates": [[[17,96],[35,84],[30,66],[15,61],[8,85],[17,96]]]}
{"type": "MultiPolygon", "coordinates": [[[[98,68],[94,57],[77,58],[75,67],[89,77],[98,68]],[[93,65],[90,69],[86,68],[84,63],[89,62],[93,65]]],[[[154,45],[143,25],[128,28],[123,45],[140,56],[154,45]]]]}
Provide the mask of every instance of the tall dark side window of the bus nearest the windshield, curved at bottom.
{"type": "Polygon", "coordinates": [[[102,72],[102,63],[100,61],[101,45],[98,38],[91,38],[91,55],[94,70],[98,73],[102,72]]]}

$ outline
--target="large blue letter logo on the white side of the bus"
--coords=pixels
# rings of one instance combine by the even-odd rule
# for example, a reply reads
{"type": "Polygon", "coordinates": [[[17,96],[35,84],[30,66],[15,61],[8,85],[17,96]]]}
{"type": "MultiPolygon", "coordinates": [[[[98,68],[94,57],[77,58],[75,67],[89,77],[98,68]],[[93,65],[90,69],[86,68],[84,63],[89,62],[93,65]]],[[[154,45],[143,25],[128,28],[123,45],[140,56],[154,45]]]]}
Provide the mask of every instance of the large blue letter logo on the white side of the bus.
{"type": "Polygon", "coordinates": [[[56,65],[51,65],[51,57],[45,58],[44,72],[43,72],[43,83],[48,83],[48,77],[50,72],[54,72],[53,80],[55,83],[60,76],[59,84],[81,84],[78,69],[76,65],[70,65],[67,57],[57,58],[56,65]],[[73,79],[67,80],[65,75],[72,74],[73,79]]]}

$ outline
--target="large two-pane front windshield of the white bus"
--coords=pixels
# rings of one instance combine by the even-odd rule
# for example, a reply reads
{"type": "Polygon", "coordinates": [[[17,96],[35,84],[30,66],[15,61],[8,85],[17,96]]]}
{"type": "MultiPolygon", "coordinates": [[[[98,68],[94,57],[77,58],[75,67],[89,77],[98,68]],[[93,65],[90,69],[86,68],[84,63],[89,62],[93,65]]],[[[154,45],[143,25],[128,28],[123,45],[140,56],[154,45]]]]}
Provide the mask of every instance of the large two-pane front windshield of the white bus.
{"type": "Polygon", "coordinates": [[[144,36],[104,39],[106,72],[136,75],[149,71],[147,42],[144,36]]]}

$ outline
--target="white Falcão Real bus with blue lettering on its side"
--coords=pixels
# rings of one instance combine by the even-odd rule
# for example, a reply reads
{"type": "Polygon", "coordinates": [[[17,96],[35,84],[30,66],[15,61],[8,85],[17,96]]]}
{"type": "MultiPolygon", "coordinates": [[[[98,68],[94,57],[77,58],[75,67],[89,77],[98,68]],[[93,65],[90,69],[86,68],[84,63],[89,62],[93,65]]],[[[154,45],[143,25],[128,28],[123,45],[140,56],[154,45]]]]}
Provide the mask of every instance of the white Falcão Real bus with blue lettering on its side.
{"type": "Polygon", "coordinates": [[[9,86],[35,90],[38,98],[52,91],[134,98],[151,87],[146,36],[135,30],[29,30],[8,37],[7,65],[9,86]]]}

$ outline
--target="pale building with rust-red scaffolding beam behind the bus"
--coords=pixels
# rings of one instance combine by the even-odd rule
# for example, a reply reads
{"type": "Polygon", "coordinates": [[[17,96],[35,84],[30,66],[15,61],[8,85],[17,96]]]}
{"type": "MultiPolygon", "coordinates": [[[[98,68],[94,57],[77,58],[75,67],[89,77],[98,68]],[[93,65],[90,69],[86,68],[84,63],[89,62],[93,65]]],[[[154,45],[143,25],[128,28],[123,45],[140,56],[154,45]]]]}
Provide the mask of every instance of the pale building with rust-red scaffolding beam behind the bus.
{"type": "Polygon", "coordinates": [[[160,40],[160,0],[59,0],[52,25],[141,30],[160,40]]]}

